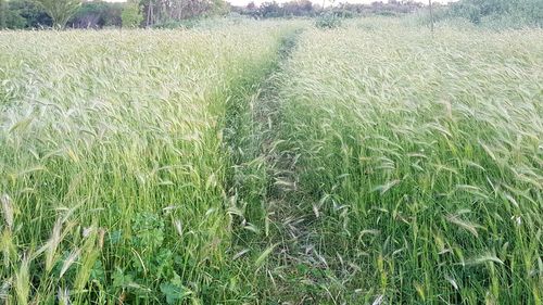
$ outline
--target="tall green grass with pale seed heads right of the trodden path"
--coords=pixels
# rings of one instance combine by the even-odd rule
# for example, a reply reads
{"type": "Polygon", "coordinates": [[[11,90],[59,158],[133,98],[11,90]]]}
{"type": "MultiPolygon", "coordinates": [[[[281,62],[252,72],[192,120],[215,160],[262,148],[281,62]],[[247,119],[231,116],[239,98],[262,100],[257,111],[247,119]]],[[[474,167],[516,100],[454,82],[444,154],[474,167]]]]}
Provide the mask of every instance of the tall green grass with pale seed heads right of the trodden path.
{"type": "Polygon", "coordinates": [[[305,33],[282,76],[305,300],[541,304],[543,33],[366,25],[305,33]]]}

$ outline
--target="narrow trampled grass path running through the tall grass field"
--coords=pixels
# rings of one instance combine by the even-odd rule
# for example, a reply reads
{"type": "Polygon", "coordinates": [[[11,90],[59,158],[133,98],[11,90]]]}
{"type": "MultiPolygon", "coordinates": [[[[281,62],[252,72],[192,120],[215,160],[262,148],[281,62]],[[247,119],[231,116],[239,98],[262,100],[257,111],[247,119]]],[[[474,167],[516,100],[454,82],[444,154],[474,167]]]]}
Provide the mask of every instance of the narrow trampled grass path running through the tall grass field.
{"type": "Polygon", "coordinates": [[[298,183],[296,152],[280,148],[285,140],[280,136],[279,92],[280,86],[288,81],[281,79],[285,77],[281,71],[289,64],[300,35],[302,30],[298,29],[282,39],[276,65],[268,68],[262,82],[253,85],[253,94],[233,94],[248,100],[237,103],[238,106],[247,103],[248,112],[230,113],[237,116],[237,123],[229,124],[237,132],[229,144],[235,145],[233,151],[238,153],[233,156],[229,190],[245,207],[236,233],[235,247],[239,252],[235,257],[254,254],[239,259],[255,263],[258,298],[263,304],[323,300],[323,295],[307,293],[304,289],[307,282],[301,281],[304,270],[328,267],[315,246],[316,231],[311,226],[314,215],[307,215],[301,207],[311,204],[307,202],[311,196],[298,183]],[[238,126],[232,126],[236,124],[238,126]]]}

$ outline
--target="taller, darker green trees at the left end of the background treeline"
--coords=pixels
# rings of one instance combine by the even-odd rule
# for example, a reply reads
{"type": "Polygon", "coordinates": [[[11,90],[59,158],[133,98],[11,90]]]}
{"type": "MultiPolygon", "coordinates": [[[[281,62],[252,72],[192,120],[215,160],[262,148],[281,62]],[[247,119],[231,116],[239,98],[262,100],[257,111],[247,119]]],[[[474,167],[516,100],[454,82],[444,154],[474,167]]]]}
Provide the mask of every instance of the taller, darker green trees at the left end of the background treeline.
{"type": "Polygon", "coordinates": [[[66,0],[0,0],[0,28],[103,28],[125,26],[164,27],[180,25],[186,20],[226,14],[224,0],[130,0],[128,2],[66,0]],[[74,10],[59,12],[62,3],[74,10]],[[51,9],[51,10],[48,10],[51,9]],[[70,13],[65,21],[52,14],[70,13]]]}

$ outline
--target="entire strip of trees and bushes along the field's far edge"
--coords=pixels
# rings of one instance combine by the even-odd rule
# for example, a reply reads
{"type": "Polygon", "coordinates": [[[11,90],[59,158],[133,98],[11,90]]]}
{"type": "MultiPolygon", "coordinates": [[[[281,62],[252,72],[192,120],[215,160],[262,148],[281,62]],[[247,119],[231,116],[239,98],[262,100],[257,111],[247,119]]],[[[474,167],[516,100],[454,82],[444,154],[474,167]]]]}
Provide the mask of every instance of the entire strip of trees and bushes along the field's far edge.
{"type": "MultiPolygon", "coordinates": [[[[253,18],[340,17],[365,15],[404,15],[425,12],[415,1],[375,1],[371,4],[339,3],[324,8],[308,0],[275,1],[261,5],[231,7],[225,0],[129,0],[104,2],[81,0],[0,0],[0,28],[103,28],[179,27],[193,20],[230,12],[253,18]]],[[[422,21],[429,23],[427,13],[422,21]]],[[[467,20],[477,25],[496,27],[543,26],[542,0],[459,0],[449,5],[434,4],[434,21],[467,20]]]]}

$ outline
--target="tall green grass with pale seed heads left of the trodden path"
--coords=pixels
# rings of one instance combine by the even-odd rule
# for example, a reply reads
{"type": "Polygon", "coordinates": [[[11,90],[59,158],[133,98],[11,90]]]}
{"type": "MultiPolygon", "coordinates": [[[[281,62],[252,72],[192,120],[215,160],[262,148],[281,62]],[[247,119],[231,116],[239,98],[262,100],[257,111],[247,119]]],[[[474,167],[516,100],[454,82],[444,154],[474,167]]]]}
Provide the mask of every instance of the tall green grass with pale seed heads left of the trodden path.
{"type": "Polygon", "coordinates": [[[0,297],[253,300],[223,130],[286,31],[0,33],[0,297]]]}

